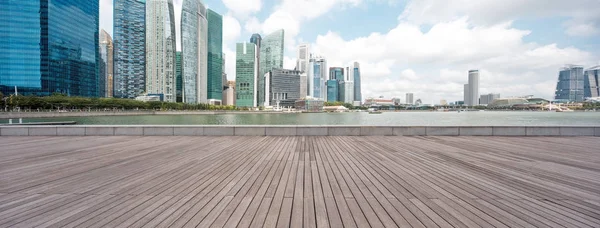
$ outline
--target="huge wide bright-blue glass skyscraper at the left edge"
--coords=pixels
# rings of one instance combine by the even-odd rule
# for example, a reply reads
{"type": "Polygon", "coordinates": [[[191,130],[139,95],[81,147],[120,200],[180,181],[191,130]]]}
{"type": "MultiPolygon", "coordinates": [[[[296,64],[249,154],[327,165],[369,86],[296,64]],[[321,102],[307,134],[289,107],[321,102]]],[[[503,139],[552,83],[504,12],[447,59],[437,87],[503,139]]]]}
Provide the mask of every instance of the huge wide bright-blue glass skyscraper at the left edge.
{"type": "Polygon", "coordinates": [[[98,97],[98,0],[0,1],[0,91],[98,97]]]}

